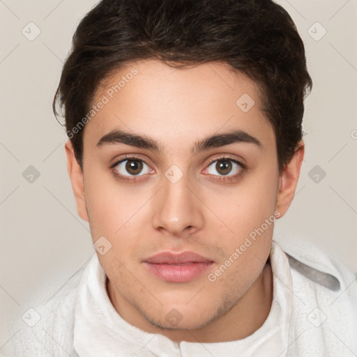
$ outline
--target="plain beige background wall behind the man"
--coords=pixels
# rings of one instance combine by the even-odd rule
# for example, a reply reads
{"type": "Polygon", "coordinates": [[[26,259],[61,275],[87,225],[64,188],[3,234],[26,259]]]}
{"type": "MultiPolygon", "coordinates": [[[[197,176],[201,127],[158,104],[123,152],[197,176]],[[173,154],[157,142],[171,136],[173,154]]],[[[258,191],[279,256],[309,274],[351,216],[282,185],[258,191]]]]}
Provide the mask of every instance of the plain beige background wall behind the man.
{"type": "MultiPolygon", "coordinates": [[[[314,88],[296,198],[275,236],[313,241],[357,271],[357,1],[279,2],[303,37],[314,88]],[[326,172],[319,183],[316,165],[326,172]]],[[[10,317],[47,301],[94,252],[51,107],[73,32],[94,3],[0,0],[0,348],[10,317]],[[22,34],[29,22],[40,29],[32,41],[22,34]],[[22,176],[30,165],[40,173],[33,183],[22,176]]]]}

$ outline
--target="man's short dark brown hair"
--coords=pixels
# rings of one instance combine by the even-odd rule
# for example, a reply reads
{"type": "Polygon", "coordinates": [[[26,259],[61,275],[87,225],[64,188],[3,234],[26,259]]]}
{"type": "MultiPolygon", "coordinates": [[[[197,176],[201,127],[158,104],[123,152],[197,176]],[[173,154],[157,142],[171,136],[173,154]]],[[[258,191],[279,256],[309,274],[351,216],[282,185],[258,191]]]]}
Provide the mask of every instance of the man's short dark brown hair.
{"type": "MultiPolygon", "coordinates": [[[[82,19],[54,96],[66,130],[86,116],[100,82],[137,59],[183,67],[222,61],[261,89],[275,131],[279,170],[302,139],[312,89],[305,49],[291,17],[271,0],[102,0],[82,19]]],[[[83,131],[70,137],[82,167],[83,131]]]]}

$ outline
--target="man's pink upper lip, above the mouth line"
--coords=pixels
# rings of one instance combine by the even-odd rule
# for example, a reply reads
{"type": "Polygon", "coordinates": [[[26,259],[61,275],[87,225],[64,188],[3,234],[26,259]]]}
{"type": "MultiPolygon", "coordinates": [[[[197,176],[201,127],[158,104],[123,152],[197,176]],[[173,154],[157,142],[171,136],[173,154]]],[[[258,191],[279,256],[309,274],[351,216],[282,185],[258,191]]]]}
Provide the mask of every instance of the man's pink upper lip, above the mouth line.
{"type": "Polygon", "coordinates": [[[160,252],[149,258],[144,259],[146,263],[151,264],[187,264],[187,263],[210,263],[212,260],[202,257],[195,252],[160,252]]]}

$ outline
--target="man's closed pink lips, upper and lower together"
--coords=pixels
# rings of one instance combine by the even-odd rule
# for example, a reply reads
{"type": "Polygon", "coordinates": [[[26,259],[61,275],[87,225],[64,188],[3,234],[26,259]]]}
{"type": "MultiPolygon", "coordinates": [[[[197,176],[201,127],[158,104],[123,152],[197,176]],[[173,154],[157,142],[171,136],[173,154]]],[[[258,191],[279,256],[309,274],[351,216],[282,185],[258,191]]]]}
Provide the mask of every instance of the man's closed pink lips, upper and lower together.
{"type": "Polygon", "coordinates": [[[213,261],[195,252],[160,252],[143,261],[150,273],[167,282],[190,282],[202,275],[213,261]]]}

